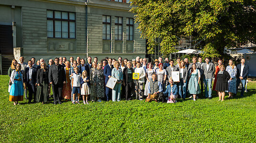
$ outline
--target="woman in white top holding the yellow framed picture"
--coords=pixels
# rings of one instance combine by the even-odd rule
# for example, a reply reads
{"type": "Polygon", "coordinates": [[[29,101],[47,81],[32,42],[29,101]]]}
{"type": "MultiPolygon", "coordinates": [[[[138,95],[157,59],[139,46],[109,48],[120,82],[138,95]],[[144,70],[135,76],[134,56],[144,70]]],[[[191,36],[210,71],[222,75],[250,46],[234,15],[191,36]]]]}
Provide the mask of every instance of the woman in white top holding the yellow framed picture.
{"type": "MultiPolygon", "coordinates": [[[[136,68],[134,70],[134,73],[139,73],[140,77],[139,77],[138,80],[135,80],[135,84],[138,86],[138,88],[140,88],[140,90],[143,90],[143,85],[144,85],[144,82],[145,82],[144,79],[145,79],[146,73],[145,73],[144,68],[142,68],[140,66],[141,66],[141,63],[136,62],[136,68]]],[[[143,100],[142,95],[139,97],[139,100],[143,100]]]]}

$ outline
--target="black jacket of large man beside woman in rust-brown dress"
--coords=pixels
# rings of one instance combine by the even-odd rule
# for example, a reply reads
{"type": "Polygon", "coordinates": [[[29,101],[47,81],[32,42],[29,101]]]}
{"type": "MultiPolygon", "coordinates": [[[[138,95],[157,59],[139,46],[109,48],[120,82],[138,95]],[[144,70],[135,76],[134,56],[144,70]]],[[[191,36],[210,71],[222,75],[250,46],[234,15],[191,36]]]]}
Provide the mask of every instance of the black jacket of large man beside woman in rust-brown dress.
{"type": "Polygon", "coordinates": [[[49,68],[49,82],[53,82],[53,84],[63,84],[66,81],[66,72],[62,65],[58,66],[53,64],[49,68]]]}

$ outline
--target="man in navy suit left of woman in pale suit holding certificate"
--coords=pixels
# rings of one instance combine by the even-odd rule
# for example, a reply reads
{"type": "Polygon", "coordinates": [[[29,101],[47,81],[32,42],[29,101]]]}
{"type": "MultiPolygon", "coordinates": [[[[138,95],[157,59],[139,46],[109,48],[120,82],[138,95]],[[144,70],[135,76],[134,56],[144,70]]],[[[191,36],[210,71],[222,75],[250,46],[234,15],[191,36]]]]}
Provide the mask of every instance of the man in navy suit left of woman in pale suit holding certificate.
{"type": "MultiPolygon", "coordinates": [[[[105,76],[105,84],[107,84],[109,78],[111,77],[111,72],[113,69],[112,65],[112,59],[108,59],[108,64],[104,67],[104,76],[105,76]]],[[[106,96],[107,96],[107,101],[109,101],[109,97],[111,97],[111,89],[106,87],[106,96]]]]}

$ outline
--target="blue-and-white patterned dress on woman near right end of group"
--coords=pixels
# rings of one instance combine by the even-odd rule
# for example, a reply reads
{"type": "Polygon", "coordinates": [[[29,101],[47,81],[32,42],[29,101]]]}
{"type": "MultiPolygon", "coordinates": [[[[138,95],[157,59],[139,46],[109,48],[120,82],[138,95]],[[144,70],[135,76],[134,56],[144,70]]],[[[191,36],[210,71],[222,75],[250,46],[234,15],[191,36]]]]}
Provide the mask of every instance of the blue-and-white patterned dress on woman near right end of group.
{"type": "Polygon", "coordinates": [[[229,73],[232,80],[228,80],[228,92],[236,93],[236,73],[237,69],[236,66],[234,66],[234,69],[232,69],[231,66],[227,66],[226,71],[229,73]]]}

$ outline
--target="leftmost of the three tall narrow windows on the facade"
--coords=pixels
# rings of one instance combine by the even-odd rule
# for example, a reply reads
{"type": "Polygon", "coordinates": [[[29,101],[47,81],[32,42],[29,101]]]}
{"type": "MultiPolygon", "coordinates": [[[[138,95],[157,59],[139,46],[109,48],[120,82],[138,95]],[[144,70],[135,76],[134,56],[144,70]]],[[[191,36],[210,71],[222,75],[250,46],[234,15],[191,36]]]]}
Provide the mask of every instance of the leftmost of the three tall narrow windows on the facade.
{"type": "Polygon", "coordinates": [[[110,16],[102,15],[102,39],[110,40],[111,39],[111,23],[110,16]]]}

